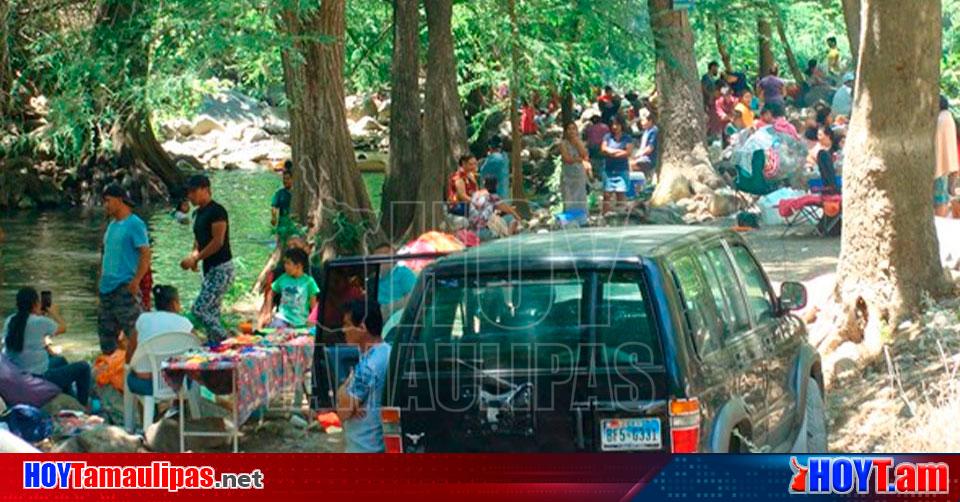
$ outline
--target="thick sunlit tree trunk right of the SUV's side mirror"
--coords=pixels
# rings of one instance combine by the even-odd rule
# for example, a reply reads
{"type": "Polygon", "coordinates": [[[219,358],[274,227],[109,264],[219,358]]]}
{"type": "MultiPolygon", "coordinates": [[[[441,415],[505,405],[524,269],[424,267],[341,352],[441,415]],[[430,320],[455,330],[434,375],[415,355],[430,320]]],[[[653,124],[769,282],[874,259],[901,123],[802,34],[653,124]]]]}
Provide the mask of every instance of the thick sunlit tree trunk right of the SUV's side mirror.
{"type": "Polygon", "coordinates": [[[845,150],[837,325],[841,340],[863,341],[869,354],[881,349],[883,327],[947,286],[932,201],[941,8],[911,5],[905,16],[896,2],[864,0],[868,30],[845,150]]]}

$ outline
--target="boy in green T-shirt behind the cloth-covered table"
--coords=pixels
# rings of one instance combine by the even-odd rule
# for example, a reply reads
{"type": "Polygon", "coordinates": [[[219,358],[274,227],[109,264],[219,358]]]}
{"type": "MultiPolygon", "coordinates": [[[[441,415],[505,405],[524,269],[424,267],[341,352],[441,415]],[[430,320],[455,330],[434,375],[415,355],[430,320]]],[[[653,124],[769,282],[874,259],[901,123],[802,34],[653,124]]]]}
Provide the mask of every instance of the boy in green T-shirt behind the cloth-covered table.
{"type": "MultiPolygon", "coordinates": [[[[273,281],[273,292],[280,295],[280,308],[271,328],[306,327],[310,312],[317,306],[320,288],[313,277],[304,273],[308,264],[307,252],[291,248],[283,253],[284,274],[273,281]]],[[[267,295],[267,311],[273,310],[274,295],[267,295]]]]}

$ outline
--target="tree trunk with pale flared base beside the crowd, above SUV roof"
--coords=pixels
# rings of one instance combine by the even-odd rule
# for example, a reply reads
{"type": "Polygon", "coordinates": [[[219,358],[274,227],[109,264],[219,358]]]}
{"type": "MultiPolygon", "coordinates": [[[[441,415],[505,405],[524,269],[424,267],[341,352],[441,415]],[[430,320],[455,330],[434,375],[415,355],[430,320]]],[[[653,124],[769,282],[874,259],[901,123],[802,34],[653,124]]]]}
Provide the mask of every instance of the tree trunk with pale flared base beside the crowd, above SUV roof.
{"type": "Polygon", "coordinates": [[[711,167],[704,145],[706,117],[687,11],[672,10],[671,0],[648,1],[662,138],[660,177],[651,202],[662,206],[693,193],[709,193],[724,182],[711,167]]]}

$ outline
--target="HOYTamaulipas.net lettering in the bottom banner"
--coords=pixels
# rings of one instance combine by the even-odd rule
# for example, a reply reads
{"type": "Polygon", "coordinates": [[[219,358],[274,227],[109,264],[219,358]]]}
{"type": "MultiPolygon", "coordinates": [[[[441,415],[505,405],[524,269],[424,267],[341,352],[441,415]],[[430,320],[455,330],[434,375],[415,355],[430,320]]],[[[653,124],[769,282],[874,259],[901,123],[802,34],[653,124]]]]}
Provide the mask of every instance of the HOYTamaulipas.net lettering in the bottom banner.
{"type": "Polygon", "coordinates": [[[170,462],[150,465],[87,465],[72,461],[23,463],[26,489],[144,489],[262,490],[259,469],[244,473],[217,473],[210,466],[181,466],[170,462]]]}

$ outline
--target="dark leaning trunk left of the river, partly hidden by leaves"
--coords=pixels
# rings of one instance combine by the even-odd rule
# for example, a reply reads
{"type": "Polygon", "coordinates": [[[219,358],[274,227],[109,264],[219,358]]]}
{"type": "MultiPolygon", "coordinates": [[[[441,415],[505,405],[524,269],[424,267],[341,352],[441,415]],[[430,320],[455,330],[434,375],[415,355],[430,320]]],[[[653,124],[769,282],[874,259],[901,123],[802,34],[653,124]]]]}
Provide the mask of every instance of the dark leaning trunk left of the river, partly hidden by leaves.
{"type": "MultiPolygon", "coordinates": [[[[99,41],[100,49],[115,51],[116,60],[125,62],[121,71],[129,81],[127,85],[133,87],[144,87],[149,78],[147,33],[152,27],[152,16],[149,5],[139,0],[104,0],[97,15],[97,24],[107,30],[104,33],[112,35],[99,41]]],[[[118,81],[122,82],[123,78],[118,75],[118,81]]],[[[141,163],[160,178],[171,196],[180,196],[185,182],[184,173],[157,141],[143,96],[129,100],[121,107],[120,115],[120,131],[114,134],[114,153],[121,161],[131,159],[141,163]]]]}

